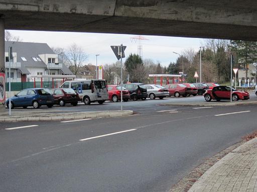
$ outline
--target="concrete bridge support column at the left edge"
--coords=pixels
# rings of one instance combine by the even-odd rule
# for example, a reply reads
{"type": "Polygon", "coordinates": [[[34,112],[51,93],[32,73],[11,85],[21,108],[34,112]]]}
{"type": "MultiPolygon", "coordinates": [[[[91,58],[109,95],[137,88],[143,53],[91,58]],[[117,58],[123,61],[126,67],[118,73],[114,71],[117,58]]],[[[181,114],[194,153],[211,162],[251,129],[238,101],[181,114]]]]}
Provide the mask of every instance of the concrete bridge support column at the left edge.
{"type": "Polygon", "coordinates": [[[6,108],[5,20],[0,16],[0,112],[6,108]]]}

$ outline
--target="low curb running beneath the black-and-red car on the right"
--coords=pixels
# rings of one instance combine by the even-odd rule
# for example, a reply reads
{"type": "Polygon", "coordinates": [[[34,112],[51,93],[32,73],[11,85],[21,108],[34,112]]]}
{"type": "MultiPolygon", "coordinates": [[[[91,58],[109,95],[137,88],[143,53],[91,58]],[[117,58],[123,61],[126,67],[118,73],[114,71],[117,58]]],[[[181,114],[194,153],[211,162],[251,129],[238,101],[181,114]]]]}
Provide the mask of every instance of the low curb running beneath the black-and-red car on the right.
{"type": "Polygon", "coordinates": [[[185,103],[185,102],[178,102],[178,103],[161,103],[160,105],[174,105],[174,106],[235,106],[235,105],[247,105],[247,104],[257,104],[257,101],[233,101],[230,103],[227,102],[206,102],[206,103],[185,103]]]}

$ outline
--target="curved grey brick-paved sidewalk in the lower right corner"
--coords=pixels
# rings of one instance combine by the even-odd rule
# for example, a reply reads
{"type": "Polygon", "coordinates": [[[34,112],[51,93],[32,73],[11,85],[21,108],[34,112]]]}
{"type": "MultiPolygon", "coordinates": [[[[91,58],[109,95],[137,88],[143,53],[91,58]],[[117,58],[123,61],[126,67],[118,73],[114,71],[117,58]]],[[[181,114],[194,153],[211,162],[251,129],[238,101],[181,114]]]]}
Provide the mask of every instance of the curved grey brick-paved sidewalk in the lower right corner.
{"type": "Polygon", "coordinates": [[[237,147],[209,168],[188,192],[257,191],[257,138],[237,147]]]}

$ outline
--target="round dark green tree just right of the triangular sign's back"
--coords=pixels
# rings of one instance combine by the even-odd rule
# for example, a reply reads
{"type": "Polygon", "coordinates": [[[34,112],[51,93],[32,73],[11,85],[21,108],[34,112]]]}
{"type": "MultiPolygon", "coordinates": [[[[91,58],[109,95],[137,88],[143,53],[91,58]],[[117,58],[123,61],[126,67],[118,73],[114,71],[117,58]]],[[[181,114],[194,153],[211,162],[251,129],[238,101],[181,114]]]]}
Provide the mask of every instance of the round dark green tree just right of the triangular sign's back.
{"type": "Polygon", "coordinates": [[[133,82],[141,82],[145,75],[145,66],[138,54],[130,54],[125,60],[125,69],[133,82]]]}

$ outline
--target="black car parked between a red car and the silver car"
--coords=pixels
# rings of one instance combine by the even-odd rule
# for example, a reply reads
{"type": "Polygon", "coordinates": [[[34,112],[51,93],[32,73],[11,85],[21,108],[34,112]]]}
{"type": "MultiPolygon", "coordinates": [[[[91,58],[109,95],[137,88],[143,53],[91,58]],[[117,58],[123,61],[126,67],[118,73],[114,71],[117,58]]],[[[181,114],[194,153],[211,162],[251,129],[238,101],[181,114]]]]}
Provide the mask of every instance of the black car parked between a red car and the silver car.
{"type": "Polygon", "coordinates": [[[132,100],[146,100],[147,98],[147,87],[142,83],[128,83],[122,84],[127,90],[129,90],[132,100]]]}

